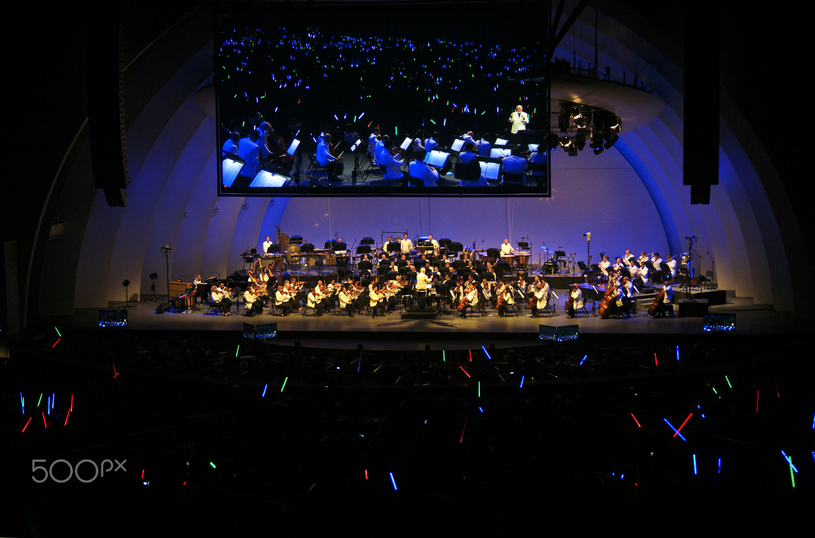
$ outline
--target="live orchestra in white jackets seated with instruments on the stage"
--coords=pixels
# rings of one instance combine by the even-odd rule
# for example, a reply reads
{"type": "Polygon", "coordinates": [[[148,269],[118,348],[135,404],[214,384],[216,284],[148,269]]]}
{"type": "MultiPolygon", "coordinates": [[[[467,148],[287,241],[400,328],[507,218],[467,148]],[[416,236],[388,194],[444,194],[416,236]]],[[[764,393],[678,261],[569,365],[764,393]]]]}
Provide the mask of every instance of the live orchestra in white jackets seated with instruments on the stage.
{"type": "MultiPolygon", "coordinates": [[[[612,256],[602,255],[601,263],[588,271],[558,274],[552,270],[547,274],[548,262],[529,264],[528,243],[517,243],[517,249],[504,239],[498,248],[477,250],[432,234],[410,238],[404,233],[398,237],[389,236],[381,247],[373,247],[372,238],[363,238],[355,248],[337,237],[323,249],[314,249],[300,237],[278,233],[276,243],[269,236],[265,238],[261,253],[256,249],[245,252],[247,263],[251,260],[245,276],[236,271],[231,278],[202,281],[198,275],[192,284],[174,284],[188,286],[182,297],[200,298],[208,312],[223,316],[231,315],[232,305],[242,302],[247,317],[263,313],[282,317],[292,313],[313,317],[368,313],[381,317],[435,309],[461,319],[468,314],[490,315],[490,311],[499,318],[528,311],[536,318],[557,315],[556,301],[560,300],[570,319],[579,312],[588,315],[587,301],[593,302],[593,312],[597,307],[597,315],[608,319],[631,317],[634,302],[645,295],[646,287],[655,295],[648,313],[673,317],[672,283],[689,276],[685,254],[679,264],[671,255],[663,260],[659,252],[642,252],[637,258],[626,251],[615,256],[614,263],[612,256]],[[322,276],[326,265],[336,272],[322,276]],[[530,268],[542,273],[533,275],[530,268]],[[313,274],[315,269],[317,274],[313,274]],[[547,281],[553,276],[574,278],[564,296],[557,295],[547,281]]],[[[557,256],[555,259],[557,262],[557,256]]],[[[171,303],[178,299],[171,299],[171,303]]]]}

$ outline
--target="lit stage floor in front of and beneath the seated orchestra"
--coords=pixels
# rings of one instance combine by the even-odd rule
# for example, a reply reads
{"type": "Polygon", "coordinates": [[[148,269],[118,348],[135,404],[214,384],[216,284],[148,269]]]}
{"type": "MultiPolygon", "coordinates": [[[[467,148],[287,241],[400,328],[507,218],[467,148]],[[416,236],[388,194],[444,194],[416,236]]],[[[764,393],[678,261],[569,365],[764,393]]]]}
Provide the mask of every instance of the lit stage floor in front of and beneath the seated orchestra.
{"type": "MultiPolygon", "coordinates": [[[[437,348],[443,343],[446,348],[467,348],[474,339],[488,339],[502,347],[522,343],[537,342],[538,326],[577,325],[581,335],[694,335],[702,332],[702,317],[676,317],[673,319],[654,319],[648,316],[645,308],[638,308],[637,314],[630,319],[601,319],[585,317],[580,313],[575,319],[567,319],[562,305],[558,302],[557,315],[554,317],[531,318],[528,310],[522,310],[518,317],[496,317],[496,311],[487,309],[486,316],[470,315],[460,319],[452,313],[441,313],[436,319],[406,319],[399,313],[385,317],[372,318],[368,315],[357,315],[350,318],[343,314],[335,316],[326,313],[322,317],[313,317],[311,310],[304,317],[293,313],[287,317],[272,317],[268,311],[261,316],[244,317],[232,310],[231,316],[206,313],[201,309],[192,313],[156,313],[156,304],[152,301],[139,303],[128,309],[128,327],[125,330],[224,330],[238,331],[244,323],[261,325],[277,323],[278,343],[301,341],[302,345],[337,345],[355,348],[356,343],[366,342],[372,348],[419,348],[430,343],[437,348]],[[421,339],[416,336],[421,335],[421,339]],[[320,343],[317,343],[320,342],[320,343]]],[[[121,303],[111,303],[108,308],[121,308],[121,303]]],[[[587,308],[591,313],[590,308],[587,308]]],[[[800,332],[803,320],[792,314],[776,313],[770,305],[753,304],[750,298],[728,297],[727,304],[710,308],[711,313],[735,313],[736,334],[782,335],[800,332]]],[[[51,320],[63,326],[77,330],[95,330],[98,326],[98,309],[77,309],[72,320],[51,320]]]]}

